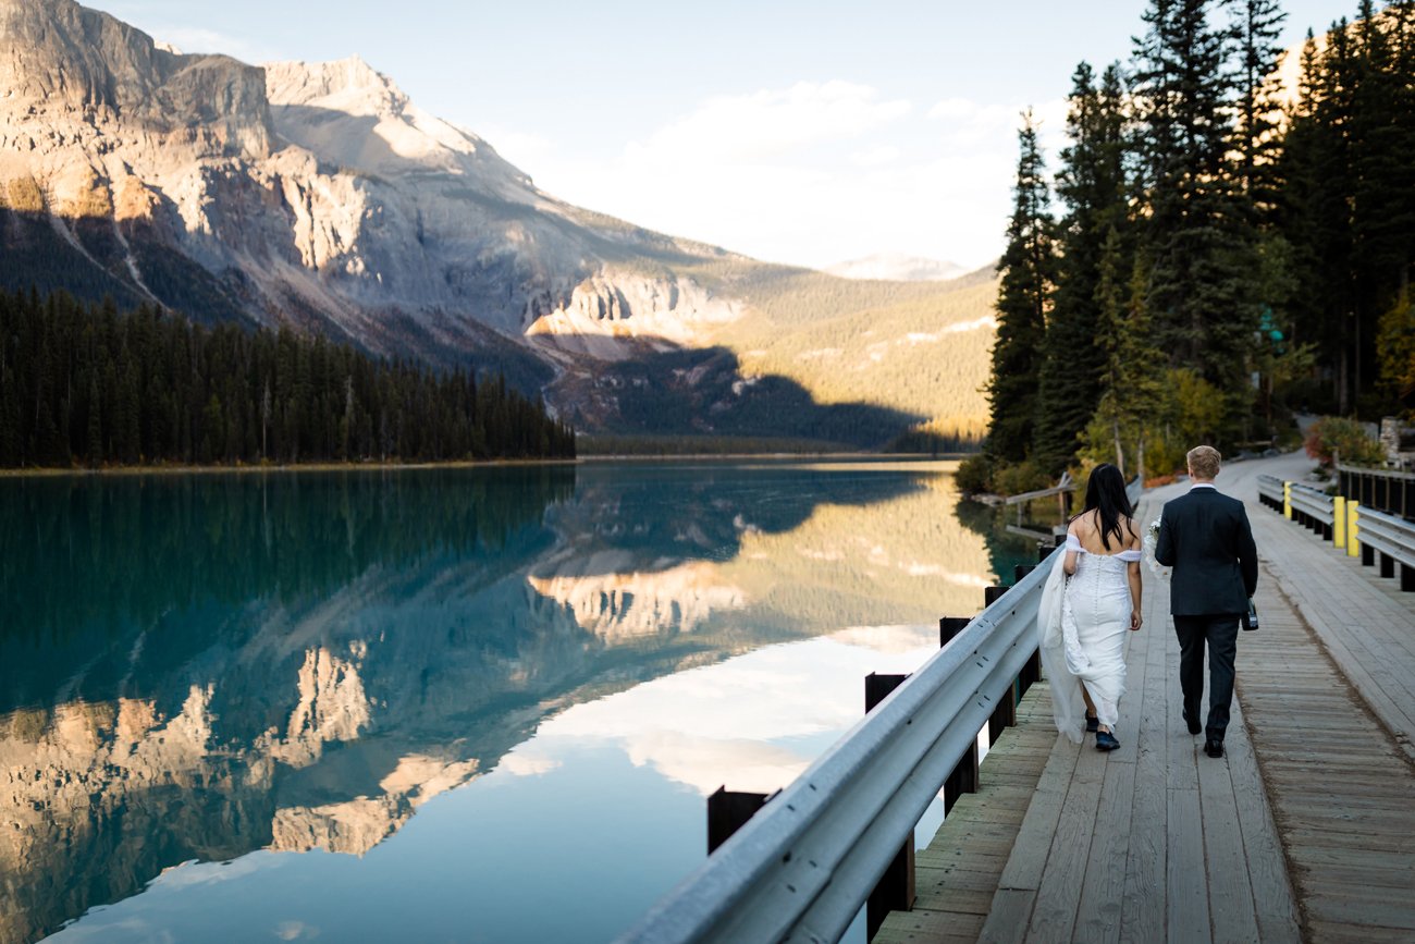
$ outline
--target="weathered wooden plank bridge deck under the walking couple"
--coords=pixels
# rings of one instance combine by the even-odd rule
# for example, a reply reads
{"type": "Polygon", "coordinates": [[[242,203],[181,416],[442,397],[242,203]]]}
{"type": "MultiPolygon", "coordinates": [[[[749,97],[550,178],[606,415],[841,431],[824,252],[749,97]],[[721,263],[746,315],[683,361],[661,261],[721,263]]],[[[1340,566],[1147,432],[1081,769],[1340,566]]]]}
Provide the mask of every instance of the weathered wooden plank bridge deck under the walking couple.
{"type": "MultiPolygon", "coordinates": [[[[1252,476],[1281,461],[1220,478],[1248,500],[1264,559],[1264,624],[1240,638],[1227,757],[1204,756],[1179,716],[1167,585],[1146,573],[1121,749],[1058,737],[1034,689],[983,761],[993,798],[959,800],[918,856],[916,910],[891,914],[876,941],[1415,940],[1415,769],[1392,733],[1412,730],[1394,725],[1415,710],[1398,688],[1415,669],[1415,599],[1361,586],[1370,569],[1343,569],[1257,504],[1252,476]],[[1347,601],[1370,616],[1343,621],[1347,601]],[[1384,713],[1367,709],[1367,689],[1384,713]]],[[[1176,494],[1148,495],[1142,521],[1176,494]]]]}

